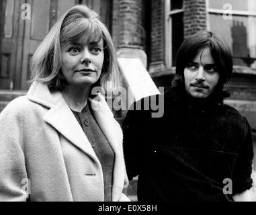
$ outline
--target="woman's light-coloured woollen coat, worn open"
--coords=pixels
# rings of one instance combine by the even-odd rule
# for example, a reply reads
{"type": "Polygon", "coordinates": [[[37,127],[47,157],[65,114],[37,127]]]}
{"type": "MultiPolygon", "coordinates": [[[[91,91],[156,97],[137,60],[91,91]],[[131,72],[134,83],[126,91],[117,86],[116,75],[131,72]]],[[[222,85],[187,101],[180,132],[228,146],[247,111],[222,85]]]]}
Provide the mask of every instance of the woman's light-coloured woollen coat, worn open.
{"type": "MultiPolygon", "coordinates": [[[[122,130],[101,95],[93,116],[114,150],[113,201],[128,201],[122,130]]],[[[34,82],[0,114],[0,200],[103,201],[103,173],[60,92],[34,82]],[[30,182],[30,184],[29,184],[30,182]]]]}

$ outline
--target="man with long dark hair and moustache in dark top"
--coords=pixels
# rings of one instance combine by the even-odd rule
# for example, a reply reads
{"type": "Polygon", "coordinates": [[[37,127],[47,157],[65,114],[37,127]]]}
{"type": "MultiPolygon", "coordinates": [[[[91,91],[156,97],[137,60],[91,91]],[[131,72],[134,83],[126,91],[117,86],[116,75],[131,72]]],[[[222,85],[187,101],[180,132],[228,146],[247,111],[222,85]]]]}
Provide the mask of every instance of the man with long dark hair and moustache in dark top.
{"type": "Polygon", "coordinates": [[[163,117],[128,112],[124,158],[128,178],[138,175],[138,201],[251,201],[251,128],[223,103],[231,74],[226,43],[199,32],[179,48],[163,117]]]}

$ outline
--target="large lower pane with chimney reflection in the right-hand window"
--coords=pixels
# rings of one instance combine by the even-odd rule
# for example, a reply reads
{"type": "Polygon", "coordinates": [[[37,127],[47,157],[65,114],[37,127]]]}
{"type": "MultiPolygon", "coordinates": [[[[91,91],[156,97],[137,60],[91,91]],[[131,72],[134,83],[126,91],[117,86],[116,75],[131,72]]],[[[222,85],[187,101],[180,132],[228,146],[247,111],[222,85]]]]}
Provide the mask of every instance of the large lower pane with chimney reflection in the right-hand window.
{"type": "Polygon", "coordinates": [[[210,30],[220,34],[232,50],[234,64],[255,68],[256,17],[233,15],[224,20],[222,15],[210,14],[210,30]]]}

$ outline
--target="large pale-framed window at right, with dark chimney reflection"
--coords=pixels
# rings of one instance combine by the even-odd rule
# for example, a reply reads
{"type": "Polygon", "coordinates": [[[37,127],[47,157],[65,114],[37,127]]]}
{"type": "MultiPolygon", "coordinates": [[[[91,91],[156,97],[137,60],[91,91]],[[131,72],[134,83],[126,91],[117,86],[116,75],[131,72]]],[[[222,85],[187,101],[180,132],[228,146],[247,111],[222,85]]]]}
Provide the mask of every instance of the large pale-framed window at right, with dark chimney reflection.
{"type": "Polygon", "coordinates": [[[228,42],[234,65],[256,69],[256,1],[207,0],[208,30],[228,42]]]}

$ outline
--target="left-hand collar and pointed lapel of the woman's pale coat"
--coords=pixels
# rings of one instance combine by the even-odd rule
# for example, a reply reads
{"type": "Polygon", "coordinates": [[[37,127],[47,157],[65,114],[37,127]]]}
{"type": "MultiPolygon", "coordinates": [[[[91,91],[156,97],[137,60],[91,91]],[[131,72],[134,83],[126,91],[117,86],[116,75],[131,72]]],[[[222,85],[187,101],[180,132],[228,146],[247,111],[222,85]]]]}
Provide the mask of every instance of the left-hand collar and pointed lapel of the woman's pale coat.
{"type": "Polygon", "coordinates": [[[83,129],[59,91],[50,93],[46,85],[35,81],[28,91],[28,99],[48,107],[43,119],[99,164],[83,129]]]}

